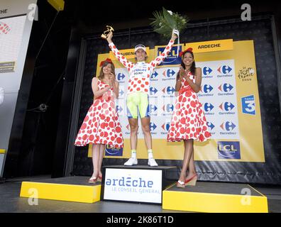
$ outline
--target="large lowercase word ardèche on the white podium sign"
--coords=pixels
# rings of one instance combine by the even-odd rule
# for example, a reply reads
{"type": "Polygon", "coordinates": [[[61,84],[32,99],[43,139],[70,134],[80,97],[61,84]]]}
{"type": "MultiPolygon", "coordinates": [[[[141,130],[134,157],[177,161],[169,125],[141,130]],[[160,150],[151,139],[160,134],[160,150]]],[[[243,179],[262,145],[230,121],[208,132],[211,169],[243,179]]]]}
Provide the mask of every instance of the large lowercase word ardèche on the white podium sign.
{"type": "Polygon", "coordinates": [[[105,184],[117,187],[153,187],[152,180],[145,181],[142,177],[138,177],[138,179],[132,177],[106,178],[105,184]]]}

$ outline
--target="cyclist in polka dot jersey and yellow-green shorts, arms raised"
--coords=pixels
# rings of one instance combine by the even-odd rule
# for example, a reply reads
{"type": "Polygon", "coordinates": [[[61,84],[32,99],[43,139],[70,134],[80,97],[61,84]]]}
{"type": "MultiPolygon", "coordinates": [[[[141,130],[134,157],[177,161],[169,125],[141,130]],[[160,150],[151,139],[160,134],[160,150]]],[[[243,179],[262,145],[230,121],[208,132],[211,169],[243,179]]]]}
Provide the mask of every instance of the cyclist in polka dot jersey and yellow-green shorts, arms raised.
{"type": "Polygon", "coordinates": [[[155,67],[159,65],[165,57],[169,54],[172,45],[175,43],[175,39],[179,32],[177,30],[172,31],[172,37],[170,42],[166,46],[165,50],[155,58],[155,60],[146,63],[147,58],[146,48],[144,45],[136,45],[135,57],[137,62],[129,62],[126,57],[121,55],[116,48],[111,38],[113,33],[109,33],[107,41],[109,42],[109,48],[111,48],[115,57],[122,63],[129,72],[128,78],[128,92],[127,92],[127,110],[128,121],[130,124],[130,141],[131,141],[131,158],[125,162],[124,165],[137,165],[138,160],[136,158],[136,145],[137,145],[137,133],[138,133],[138,115],[140,116],[141,126],[144,134],[145,145],[148,148],[148,165],[158,166],[157,162],[153,158],[152,150],[152,137],[150,133],[150,113],[148,95],[150,92],[150,75],[153,74],[155,67]]]}

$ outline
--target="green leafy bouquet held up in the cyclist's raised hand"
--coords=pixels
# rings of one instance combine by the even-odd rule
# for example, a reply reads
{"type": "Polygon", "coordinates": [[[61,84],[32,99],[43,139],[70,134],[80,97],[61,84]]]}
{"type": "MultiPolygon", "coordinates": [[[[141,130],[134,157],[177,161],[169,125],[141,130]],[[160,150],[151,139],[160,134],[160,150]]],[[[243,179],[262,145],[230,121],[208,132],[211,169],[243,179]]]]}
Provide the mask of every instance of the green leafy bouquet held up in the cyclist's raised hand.
{"type": "Polygon", "coordinates": [[[187,28],[187,22],[189,21],[187,16],[172,13],[172,11],[167,11],[164,7],[162,7],[162,11],[153,12],[153,16],[155,18],[151,18],[153,22],[150,25],[153,26],[156,33],[160,33],[166,38],[170,38],[173,29],[181,33],[187,28]]]}

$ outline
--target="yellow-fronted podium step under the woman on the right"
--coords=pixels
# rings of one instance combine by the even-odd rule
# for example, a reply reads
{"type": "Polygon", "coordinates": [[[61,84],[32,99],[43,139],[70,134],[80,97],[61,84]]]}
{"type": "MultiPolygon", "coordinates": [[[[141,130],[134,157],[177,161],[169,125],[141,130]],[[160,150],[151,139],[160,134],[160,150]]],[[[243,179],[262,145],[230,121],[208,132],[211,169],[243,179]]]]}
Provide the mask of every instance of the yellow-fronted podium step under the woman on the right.
{"type": "Polygon", "coordinates": [[[204,213],[268,213],[268,199],[248,184],[197,182],[163,192],[162,209],[204,213]]]}

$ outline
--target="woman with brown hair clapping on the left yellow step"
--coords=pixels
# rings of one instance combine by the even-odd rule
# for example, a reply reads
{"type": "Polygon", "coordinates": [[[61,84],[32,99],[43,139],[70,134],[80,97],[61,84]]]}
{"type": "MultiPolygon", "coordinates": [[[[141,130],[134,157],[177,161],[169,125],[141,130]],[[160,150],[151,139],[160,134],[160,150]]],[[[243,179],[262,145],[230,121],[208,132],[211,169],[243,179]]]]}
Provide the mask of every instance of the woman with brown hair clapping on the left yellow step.
{"type": "Polygon", "coordinates": [[[75,145],[92,144],[92,162],[94,172],[89,183],[101,181],[101,164],[105,145],[123,148],[123,135],[115,99],[119,94],[119,83],[115,80],[114,64],[107,58],[101,62],[99,79],[92,79],[94,102],[90,106],[77,134],[75,145]]]}

